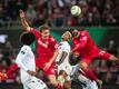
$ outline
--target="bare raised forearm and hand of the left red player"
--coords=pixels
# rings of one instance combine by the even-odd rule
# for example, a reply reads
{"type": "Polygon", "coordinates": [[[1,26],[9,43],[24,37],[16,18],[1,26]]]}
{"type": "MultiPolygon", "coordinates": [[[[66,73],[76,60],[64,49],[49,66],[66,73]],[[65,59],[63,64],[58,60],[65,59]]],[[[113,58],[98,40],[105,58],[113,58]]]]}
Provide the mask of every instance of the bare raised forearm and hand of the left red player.
{"type": "Polygon", "coordinates": [[[20,19],[21,19],[22,27],[26,30],[28,30],[30,27],[29,27],[29,23],[27,22],[26,14],[22,10],[20,10],[20,19]]]}

